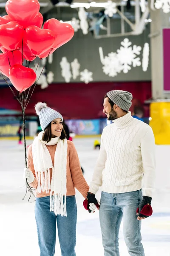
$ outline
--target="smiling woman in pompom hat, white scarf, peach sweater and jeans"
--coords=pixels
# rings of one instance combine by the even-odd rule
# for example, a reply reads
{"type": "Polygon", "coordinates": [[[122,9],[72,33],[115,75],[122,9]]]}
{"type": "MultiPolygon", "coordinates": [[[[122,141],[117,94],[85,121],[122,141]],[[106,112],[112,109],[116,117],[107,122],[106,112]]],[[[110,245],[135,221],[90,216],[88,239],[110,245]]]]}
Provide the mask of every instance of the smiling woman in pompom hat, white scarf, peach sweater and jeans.
{"type": "Polygon", "coordinates": [[[66,139],[61,114],[42,102],[35,109],[42,132],[28,148],[24,178],[36,189],[40,256],[54,256],[56,222],[62,256],[76,256],[75,187],[86,198],[89,186],[82,175],[74,144],[66,139]]]}

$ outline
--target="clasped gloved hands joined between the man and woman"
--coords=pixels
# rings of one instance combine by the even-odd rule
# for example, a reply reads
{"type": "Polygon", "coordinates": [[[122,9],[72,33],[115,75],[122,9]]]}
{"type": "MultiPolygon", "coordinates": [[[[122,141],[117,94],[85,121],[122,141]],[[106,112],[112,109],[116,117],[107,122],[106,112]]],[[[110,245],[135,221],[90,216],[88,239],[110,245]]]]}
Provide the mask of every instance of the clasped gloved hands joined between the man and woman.
{"type": "Polygon", "coordinates": [[[99,209],[100,203],[95,198],[94,194],[88,192],[87,198],[83,202],[83,206],[89,212],[94,213],[96,209],[99,209]]]}

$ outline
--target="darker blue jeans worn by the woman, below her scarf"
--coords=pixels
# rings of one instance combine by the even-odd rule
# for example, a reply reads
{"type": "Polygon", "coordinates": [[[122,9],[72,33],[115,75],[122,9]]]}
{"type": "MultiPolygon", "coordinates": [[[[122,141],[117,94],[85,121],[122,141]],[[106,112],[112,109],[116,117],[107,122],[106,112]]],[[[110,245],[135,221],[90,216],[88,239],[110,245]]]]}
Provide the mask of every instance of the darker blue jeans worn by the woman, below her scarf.
{"type": "Polygon", "coordinates": [[[50,197],[36,198],[35,219],[37,223],[40,256],[54,256],[56,222],[62,256],[76,256],[77,204],[75,195],[67,196],[67,217],[50,212],[50,197]]]}

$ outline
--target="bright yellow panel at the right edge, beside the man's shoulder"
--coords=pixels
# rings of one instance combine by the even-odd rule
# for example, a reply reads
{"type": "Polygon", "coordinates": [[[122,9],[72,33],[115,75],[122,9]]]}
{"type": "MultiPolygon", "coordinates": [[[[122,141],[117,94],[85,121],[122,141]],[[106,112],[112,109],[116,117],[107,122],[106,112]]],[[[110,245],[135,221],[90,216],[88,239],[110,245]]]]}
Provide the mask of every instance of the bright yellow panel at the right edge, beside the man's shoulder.
{"type": "Polygon", "coordinates": [[[150,126],[157,145],[170,145],[170,102],[150,104],[150,126]]]}

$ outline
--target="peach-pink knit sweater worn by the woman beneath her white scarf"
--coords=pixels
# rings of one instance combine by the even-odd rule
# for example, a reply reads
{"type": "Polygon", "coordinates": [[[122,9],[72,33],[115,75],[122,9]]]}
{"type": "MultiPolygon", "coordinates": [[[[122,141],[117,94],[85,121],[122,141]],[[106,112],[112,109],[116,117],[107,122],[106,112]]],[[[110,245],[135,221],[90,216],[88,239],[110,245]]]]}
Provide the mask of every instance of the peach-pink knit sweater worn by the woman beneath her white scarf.
{"type": "MultiPolygon", "coordinates": [[[[84,176],[82,175],[81,166],[79,163],[79,157],[76,151],[76,148],[74,146],[74,143],[71,141],[67,141],[68,143],[68,153],[67,153],[67,194],[66,195],[75,195],[75,188],[79,190],[79,192],[83,195],[84,198],[86,198],[89,186],[87,182],[85,181],[84,176]]],[[[54,166],[54,154],[56,151],[56,145],[46,145],[48,148],[48,151],[51,155],[51,160],[54,166]]],[[[32,183],[29,183],[31,187],[34,187],[37,189],[38,186],[38,180],[35,177],[35,170],[34,170],[34,163],[33,163],[33,157],[32,157],[32,145],[28,147],[28,168],[33,172],[34,174],[34,181],[32,183]]],[[[52,169],[50,169],[50,177],[52,177],[52,169]]],[[[49,196],[50,191],[48,193],[42,192],[37,193],[36,197],[45,197],[49,196]]]]}

